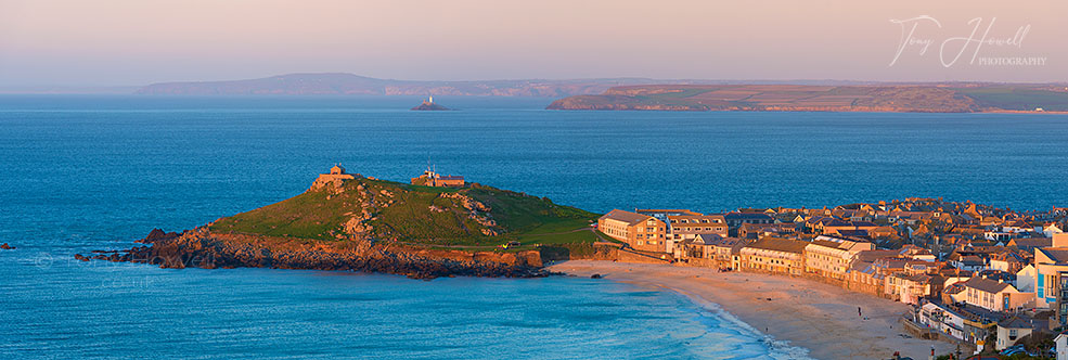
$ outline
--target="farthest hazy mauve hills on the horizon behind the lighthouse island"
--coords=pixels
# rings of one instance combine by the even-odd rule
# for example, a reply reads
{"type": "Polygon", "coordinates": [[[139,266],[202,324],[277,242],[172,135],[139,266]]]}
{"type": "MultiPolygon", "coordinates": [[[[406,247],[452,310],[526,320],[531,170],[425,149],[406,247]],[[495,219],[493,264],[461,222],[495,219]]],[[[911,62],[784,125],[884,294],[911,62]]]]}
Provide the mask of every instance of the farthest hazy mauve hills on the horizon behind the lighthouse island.
{"type": "Polygon", "coordinates": [[[352,74],[288,74],[230,81],[163,82],[139,94],[182,95],[466,95],[559,98],[601,93],[619,85],[653,83],[641,78],[571,80],[412,81],[352,74]]]}

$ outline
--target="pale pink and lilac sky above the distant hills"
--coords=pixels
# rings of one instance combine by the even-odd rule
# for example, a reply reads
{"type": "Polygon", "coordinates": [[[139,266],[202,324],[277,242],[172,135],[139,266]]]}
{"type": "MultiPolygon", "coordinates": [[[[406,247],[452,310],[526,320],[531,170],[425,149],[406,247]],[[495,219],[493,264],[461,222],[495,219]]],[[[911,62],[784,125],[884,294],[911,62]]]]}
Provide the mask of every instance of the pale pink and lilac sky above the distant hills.
{"type": "Polygon", "coordinates": [[[1068,81],[1066,17],[1064,0],[0,0],[0,88],[333,72],[1068,81]]]}

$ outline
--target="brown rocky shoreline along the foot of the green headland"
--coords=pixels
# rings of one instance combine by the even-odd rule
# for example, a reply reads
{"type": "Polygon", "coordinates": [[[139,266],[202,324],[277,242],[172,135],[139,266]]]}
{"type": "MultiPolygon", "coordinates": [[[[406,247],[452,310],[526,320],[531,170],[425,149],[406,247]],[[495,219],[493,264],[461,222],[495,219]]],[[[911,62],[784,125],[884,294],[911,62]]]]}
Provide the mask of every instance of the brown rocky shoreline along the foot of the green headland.
{"type": "Polygon", "coordinates": [[[537,250],[462,252],[382,241],[324,242],[292,237],[217,234],[198,228],[182,233],[155,229],[137,241],[147,245],[75,255],[82,261],[157,265],[160,268],[271,268],[361,271],[406,275],[542,278],[558,274],[542,267],[537,250]]]}

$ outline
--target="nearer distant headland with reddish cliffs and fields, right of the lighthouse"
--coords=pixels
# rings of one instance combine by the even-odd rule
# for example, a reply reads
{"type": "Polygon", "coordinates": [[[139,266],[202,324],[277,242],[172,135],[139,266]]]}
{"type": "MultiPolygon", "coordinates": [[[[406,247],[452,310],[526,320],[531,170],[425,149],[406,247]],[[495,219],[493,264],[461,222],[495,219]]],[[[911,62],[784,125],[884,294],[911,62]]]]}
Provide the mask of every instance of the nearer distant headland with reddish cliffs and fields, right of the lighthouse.
{"type": "Polygon", "coordinates": [[[1064,85],[647,85],[572,95],[550,110],[974,113],[1068,111],[1064,85]]]}

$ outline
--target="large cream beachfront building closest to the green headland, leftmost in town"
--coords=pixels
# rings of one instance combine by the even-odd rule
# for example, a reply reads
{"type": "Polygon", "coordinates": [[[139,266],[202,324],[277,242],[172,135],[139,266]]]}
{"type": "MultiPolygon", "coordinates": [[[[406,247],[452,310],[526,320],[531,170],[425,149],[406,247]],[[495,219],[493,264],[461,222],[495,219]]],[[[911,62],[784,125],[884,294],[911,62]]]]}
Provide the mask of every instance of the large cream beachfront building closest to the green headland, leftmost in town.
{"type": "Polygon", "coordinates": [[[648,215],[615,209],[597,219],[597,230],[636,250],[666,252],[667,226],[648,215]]]}

